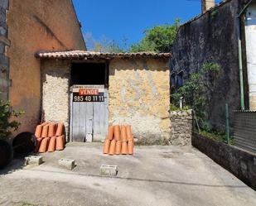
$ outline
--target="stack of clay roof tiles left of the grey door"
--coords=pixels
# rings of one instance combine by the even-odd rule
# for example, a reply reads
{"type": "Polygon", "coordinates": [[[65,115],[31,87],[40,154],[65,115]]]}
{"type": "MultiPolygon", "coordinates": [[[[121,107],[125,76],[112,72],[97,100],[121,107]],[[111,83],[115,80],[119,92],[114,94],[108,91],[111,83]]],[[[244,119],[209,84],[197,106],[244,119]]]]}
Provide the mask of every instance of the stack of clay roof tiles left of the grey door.
{"type": "Polygon", "coordinates": [[[35,152],[62,151],[65,146],[64,124],[44,122],[36,126],[35,152]]]}

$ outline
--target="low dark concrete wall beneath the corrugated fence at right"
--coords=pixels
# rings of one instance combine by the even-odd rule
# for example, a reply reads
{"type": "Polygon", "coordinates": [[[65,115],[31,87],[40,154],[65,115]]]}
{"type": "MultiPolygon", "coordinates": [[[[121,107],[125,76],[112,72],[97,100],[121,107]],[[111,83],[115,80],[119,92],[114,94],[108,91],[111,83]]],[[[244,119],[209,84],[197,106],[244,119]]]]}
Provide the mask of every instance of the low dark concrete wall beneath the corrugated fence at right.
{"type": "Polygon", "coordinates": [[[223,142],[213,141],[193,133],[192,146],[205,153],[216,163],[229,170],[239,180],[256,189],[256,155],[229,146],[223,142]]]}

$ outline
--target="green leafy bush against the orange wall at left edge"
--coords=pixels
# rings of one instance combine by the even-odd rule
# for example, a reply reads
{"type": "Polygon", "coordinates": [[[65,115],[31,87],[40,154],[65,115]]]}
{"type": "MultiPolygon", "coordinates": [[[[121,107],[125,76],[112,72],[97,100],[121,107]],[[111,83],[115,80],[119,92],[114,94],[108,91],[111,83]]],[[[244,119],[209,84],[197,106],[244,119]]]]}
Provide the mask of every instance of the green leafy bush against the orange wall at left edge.
{"type": "Polygon", "coordinates": [[[11,109],[9,101],[0,100],[0,139],[7,140],[12,132],[20,126],[20,122],[10,120],[12,117],[20,117],[24,112],[16,112],[11,109]]]}

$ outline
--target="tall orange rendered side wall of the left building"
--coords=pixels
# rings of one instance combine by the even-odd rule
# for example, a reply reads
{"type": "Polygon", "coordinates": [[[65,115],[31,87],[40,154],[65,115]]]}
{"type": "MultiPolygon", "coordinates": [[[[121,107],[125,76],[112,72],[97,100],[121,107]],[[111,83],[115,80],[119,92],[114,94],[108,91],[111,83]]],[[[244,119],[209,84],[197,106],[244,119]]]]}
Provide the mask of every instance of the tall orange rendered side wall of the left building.
{"type": "Polygon", "coordinates": [[[7,14],[10,58],[9,99],[25,115],[17,132],[34,132],[40,121],[41,76],[38,50],[85,50],[71,0],[10,0],[7,14]]]}

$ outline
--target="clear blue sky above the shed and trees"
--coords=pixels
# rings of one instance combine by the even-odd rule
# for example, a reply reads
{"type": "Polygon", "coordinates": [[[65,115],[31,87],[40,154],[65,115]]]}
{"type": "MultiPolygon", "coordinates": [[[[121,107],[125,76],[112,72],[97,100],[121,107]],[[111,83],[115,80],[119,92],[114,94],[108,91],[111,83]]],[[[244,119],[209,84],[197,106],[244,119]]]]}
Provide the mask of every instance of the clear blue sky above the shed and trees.
{"type": "Polygon", "coordinates": [[[200,13],[200,0],[73,0],[84,34],[95,40],[104,36],[123,46],[142,39],[152,26],[181,22],[200,13]]]}

